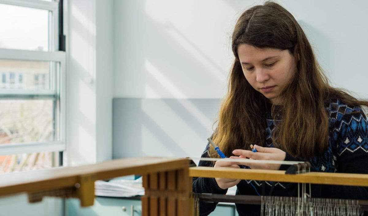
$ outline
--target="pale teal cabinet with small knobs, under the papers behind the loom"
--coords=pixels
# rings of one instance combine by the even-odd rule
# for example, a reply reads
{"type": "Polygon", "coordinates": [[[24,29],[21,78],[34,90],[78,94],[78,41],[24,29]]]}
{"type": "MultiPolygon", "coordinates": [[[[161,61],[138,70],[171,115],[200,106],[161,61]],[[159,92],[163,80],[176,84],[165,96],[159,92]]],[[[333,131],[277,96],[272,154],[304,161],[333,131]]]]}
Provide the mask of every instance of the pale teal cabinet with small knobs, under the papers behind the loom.
{"type": "MultiPolygon", "coordinates": [[[[95,205],[81,208],[78,199],[66,199],[66,216],[141,216],[140,197],[96,197],[95,205]]],[[[237,216],[234,205],[218,204],[209,216],[237,216]]]]}

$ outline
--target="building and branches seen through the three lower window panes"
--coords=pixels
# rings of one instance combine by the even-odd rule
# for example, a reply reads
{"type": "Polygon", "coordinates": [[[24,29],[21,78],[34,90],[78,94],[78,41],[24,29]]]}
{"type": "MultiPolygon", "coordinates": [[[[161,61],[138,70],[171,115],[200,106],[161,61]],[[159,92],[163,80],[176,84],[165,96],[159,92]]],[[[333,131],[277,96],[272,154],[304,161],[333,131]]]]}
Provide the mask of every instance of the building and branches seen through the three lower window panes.
{"type": "MultiPolygon", "coordinates": [[[[0,60],[0,89],[49,89],[49,63],[0,60]]],[[[0,144],[53,141],[54,100],[0,100],[0,144]]],[[[51,152],[0,156],[0,173],[50,168],[51,152]]]]}

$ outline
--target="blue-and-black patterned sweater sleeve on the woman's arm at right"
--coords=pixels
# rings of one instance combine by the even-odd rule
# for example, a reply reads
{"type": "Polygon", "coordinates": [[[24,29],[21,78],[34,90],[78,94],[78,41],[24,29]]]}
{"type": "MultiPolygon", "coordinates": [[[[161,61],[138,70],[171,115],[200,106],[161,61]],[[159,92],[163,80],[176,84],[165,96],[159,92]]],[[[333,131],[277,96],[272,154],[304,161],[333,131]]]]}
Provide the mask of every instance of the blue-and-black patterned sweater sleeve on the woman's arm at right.
{"type": "MultiPolygon", "coordinates": [[[[344,113],[341,118],[336,116],[336,122],[330,131],[338,173],[368,174],[368,127],[367,118],[359,108],[353,112],[344,113]]],[[[306,161],[286,154],[286,161],[306,161]]],[[[323,167],[324,168],[324,167],[323,167]]],[[[323,172],[321,168],[312,167],[312,172],[323,172]]],[[[280,169],[286,169],[282,166],[280,169]]],[[[297,184],[287,184],[290,195],[297,194],[297,184]]],[[[312,184],[312,197],[339,199],[368,199],[368,188],[357,186],[338,186],[312,184]]]]}

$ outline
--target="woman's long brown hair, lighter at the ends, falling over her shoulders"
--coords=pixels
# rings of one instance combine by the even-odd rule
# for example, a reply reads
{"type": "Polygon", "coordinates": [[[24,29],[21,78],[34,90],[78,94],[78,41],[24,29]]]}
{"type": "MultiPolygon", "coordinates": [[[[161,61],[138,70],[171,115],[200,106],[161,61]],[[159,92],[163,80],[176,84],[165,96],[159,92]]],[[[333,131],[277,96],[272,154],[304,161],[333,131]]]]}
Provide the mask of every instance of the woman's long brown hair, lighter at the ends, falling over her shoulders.
{"type": "MultiPolygon", "coordinates": [[[[300,25],[285,8],[266,1],[241,14],[232,36],[235,56],[213,140],[226,156],[234,149],[249,149],[250,144],[265,143],[268,100],[245,79],[238,58],[237,48],[248,44],[258,48],[289,50],[296,58],[296,73],[278,99],[282,105],[272,105],[272,115],[280,114],[272,135],[277,148],[292,156],[311,158],[328,147],[329,116],[325,102],[339,98],[351,106],[368,106],[367,101],[357,100],[341,89],[328,84],[300,25]],[[277,137],[277,138],[275,138],[277,137]]],[[[209,154],[218,157],[211,147],[209,154]]]]}

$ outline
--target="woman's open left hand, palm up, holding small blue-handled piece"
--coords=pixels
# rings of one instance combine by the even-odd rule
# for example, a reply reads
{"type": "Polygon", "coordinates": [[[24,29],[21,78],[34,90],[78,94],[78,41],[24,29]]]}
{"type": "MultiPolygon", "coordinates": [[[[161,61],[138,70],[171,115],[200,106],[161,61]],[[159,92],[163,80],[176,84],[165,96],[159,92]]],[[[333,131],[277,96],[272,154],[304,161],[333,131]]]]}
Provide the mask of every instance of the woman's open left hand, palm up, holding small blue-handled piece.
{"type": "MultiPolygon", "coordinates": [[[[236,149],[233,151],[234,155],[230,158],[249,158],[254,160],[273,160],[273,161],[283,161],[285,159],[286,153],[278,148],[268,148],[254,145],[257,152],[252,152],[249,150],[236,149]]],[[[245,166],[249,166],[251,169],[280,169],[280,164],[270,164],[270,163],[243,163],[245,166]]]]}

